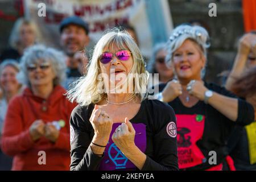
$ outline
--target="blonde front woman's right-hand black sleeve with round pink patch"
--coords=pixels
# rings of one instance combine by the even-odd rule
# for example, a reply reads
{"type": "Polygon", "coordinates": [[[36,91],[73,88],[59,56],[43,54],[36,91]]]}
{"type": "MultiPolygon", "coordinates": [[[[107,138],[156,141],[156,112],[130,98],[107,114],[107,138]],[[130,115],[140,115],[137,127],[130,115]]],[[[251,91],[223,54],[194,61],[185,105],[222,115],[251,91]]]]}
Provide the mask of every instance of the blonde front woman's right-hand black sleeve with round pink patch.
{"type": "Polygon", "coordinates": [[[154,160],[149,156],[146,158],[146,162],[142,170],[145,171],[166,171],[166,170],[179,170],[177,163],[177,139],[176,139],[176,117],[174,110],[171,106],[159,103],[155,108],[154,114],[154,160]],[[172,122],[172,123],[171,123],[172,122]],[[170,135],[167,133],[167,127],[172,125],[175,127],[175,131],[170,135]],[[172,136],[172,137],[171,137],[172,136]]]}

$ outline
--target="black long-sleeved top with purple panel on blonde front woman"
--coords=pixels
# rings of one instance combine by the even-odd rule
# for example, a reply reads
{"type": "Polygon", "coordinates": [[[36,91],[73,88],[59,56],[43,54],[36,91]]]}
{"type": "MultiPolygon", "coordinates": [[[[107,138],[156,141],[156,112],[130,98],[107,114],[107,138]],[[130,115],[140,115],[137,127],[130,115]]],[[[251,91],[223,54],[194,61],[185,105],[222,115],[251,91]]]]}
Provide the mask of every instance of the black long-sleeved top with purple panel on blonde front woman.
{"type": "MultiPolygon", "coordinates": [[[[90,104],[77,106],[72,111],[70,119],[71,170],[137,170],[138,168],[133,166],[125,156],[119,155],[123,159],[123,163],[115,160],[114,157],[116,156],[113,156],[113,152],[115,152],[116,146],[111,142],[108,143],[104,156],[100,157],[93,154],[89,146],[94,135],[93,127],[89,121],[93,108],[94,105],[90,104]],[[109,160],[106,160],[105,157],[109,160]]],[[[172,107],[157,100],[143,100],[141,108],[135,117],[130,119],[130,122],[133,123],[136,131],[135,144],[147,156],[142,170],[178,170],[176,117],[172,107]],[[175,131],[168,131],[167,129],[174,129],[175,131]]],[[[117,123],[114,125],[118,126],[117,123]]],[[[114,127],[112,132],[113,130],[114,127]]],[[[111,137],[112,135],[110,135],[110,140],[111,137]]]]}

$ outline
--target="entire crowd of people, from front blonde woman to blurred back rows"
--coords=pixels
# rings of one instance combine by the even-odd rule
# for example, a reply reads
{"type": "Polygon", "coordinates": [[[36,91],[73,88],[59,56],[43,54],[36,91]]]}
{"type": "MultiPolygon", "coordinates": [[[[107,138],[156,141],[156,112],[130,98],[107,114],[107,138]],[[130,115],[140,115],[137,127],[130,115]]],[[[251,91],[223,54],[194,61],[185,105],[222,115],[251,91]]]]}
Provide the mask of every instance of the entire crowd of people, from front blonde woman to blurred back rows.
{"type": "Polygon", "coordinates": [[[59,32],[61,50],[47,47],[20,18],[0,55],[0,170],[256,170],[256,32],[240,39],[225,87],[204,80],[198,24],[146,59],[129,24],[92,51],[78,16],[59,32]]]}

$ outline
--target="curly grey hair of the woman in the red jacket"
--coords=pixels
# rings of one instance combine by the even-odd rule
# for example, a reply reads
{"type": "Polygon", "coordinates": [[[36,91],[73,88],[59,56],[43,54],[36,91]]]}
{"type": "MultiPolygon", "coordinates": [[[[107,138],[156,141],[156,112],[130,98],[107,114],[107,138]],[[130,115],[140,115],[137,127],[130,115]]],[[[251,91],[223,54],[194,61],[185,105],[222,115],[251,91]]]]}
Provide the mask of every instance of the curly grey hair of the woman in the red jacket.
{"type": "Polygon", "coordinates": [[[54,48],[47,48],[40,44],[31,46],[24,51],[24,55],[20,60],[20,72],[17,76],[18,81],[30,86],[27,67],[29,64],[38,64],[39,61],[42,60],[49,61],[52,70],[56,75],[53,80],[53,85],[63,84],[66,78],[67,68],[65,64],[65,55],[61,51],[57,51],[54,48]]]}

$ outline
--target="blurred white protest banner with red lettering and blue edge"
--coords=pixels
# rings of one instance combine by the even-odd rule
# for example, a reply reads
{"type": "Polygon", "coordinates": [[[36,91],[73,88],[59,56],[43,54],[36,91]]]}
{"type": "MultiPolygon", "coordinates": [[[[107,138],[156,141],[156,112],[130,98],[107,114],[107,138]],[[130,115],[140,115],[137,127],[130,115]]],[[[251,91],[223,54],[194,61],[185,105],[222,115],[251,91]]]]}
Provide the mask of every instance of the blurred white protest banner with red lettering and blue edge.
{"type": "Polygon", "coordinates": [[[57,48],[59,23],[71,15],[89,23],[93,44],[107,28],[130,24],[137,32],[139,47],[146,57],[151,56],[155,43],[168,39],[172,30],[167,0],[24,0],[24,7],[26,16],[38,24],[43,43],[57,48]]]}

